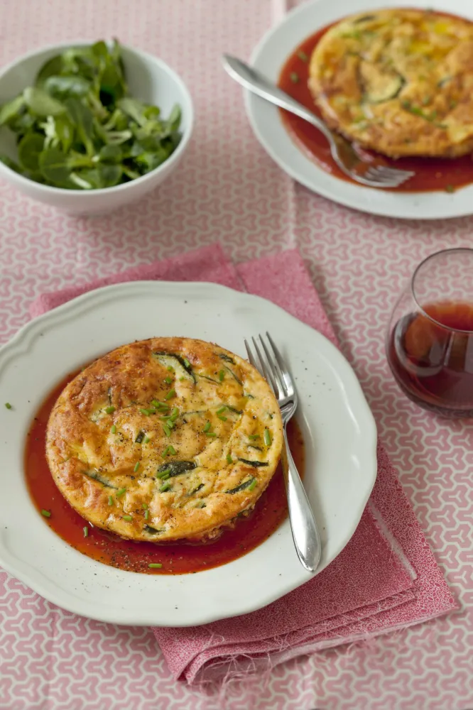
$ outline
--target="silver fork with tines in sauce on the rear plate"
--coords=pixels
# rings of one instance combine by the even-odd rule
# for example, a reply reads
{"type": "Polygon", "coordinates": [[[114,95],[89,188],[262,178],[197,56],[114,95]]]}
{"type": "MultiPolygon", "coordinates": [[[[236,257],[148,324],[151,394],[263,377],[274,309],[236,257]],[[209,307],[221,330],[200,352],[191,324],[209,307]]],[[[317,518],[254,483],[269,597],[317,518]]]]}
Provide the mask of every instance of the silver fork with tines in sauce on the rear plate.
{"type": "Polygon", "coordinates": [[[356,180],[367,187],[399,187],[399,185],[403,185],[403,182],[415,175],[411,170],[389,168],[382,158],[370,158],[369,163],[366,160],[362,160],[360,155],[354,150],[352,143],[349,143],[339,133],[330,131],[318,116],[312,114],[312,111],[306,109],[303,104],[300,104],[289,94],[279,89],[276,84],[272,84],[266,77],[263,77],[253,67],[245,64],[237,57],[224,54],[223,65],[232,79],[239,82],[246,89],[258,94],[266,101],[276,104],[281,109],[286,109],[291,114],[300,116],[301,119],[305,119],[316,129],[319,129],[329,142],[330,152],[335,163],[352,180],[356,180]]]}

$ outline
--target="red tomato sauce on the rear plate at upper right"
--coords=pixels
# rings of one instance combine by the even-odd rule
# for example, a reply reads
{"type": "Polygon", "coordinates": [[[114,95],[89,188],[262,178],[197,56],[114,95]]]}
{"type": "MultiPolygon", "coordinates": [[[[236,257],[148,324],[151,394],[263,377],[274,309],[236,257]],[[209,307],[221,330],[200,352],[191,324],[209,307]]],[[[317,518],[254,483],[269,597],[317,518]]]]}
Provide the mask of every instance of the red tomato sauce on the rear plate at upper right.
{"type": "MultiPolygon", "coordinates": [[[[447,16],[450,13],[435,14],[447,16]]],[[[322,28],[313,35],[310,35],[302,44],[295,48],[286,64],[283,66],[279,77],[278,86],[281,87],[291,97],[300,104],[310,109],[312,113],[322,118],[320,110],[315,105],[314,99],[308,87],[309,61],[310,55],[317,46],[317,43],[332,27],[331,25],[322,28]],[[298,81],[294,82],[291,76],[296,75],[298,81]]],[[[311,126],[308,121],[300,119],[299,116],[281,110],[283,124],[294,143],[305,155],[315,160],[327,173],[335,175],[340,180],[355,182],[348,175],[340,170],[335,160],[330,154],[329,145],[317,131],[315,126],[311,126]]],[[[368,156],[377,155],[374,151],[365,151],[368,156]]],[[[392,188],[394,192],[432,192],[435,190],[446,190],[452,192],[457,187],[464,187],[473,182],[473,160],[472,155],[463,155],[462,158],[388,158],[386,155],[380,156],[387,165],[400,170],[413,170],[415,175],[400,187],[392,188]]]]}

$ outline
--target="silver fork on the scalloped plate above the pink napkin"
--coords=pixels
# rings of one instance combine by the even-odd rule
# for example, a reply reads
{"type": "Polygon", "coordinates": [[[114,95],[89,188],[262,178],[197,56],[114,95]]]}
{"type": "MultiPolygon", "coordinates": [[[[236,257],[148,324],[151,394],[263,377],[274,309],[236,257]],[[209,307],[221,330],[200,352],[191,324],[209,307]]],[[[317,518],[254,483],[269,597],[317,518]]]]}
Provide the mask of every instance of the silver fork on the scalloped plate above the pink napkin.
{"type": "Polygon", "coordinates": [[[268,344],[266,344],[263,337],[259,335],[259,340],[266,358],[262,356],[259,345],[254,338],[251,338],[251,340],[256,356],[245,340],[246,352],[251,364],[259,370],[271,385],[276,399],[278,400],[284,425],[284,441],[286,442],[286,466],[283,468],[286,469],[284,473],[286,474],[286,493],[288,496],[290,528],[293,532],[295,550],[298,553],[300,562],[309,572],[315,572],[320,562],[320,553],[322,551],[320,535],[317,530],[317,523],[315,523],[314,513],[312,513],[307,494],[300,480],[298,469],[290,453],[288,435],[286,432],[288,421],[293,417],[298,407],[298,393],[295,391],[290,371],[281,353],[274,344],[271,335],[266,333],[266,337],[268,344]]]}

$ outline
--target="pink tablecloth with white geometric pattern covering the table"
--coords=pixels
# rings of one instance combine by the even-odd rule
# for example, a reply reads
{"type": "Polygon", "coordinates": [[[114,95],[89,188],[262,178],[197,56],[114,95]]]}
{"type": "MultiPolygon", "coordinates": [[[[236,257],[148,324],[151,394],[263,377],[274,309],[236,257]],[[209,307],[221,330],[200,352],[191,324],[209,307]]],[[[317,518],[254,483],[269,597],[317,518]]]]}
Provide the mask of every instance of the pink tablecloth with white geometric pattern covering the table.
{"type": "Polygon", "coordinates": [[[0,340],[28,320],[43,291],[217,239],[237,261],[297,244],[462,610],[289,662],[217,697],[173,681],[151,630],[79,619],[0,572],[1,710],[473,707],[473,423],[437,419],[403,398],[383,346],[391,305],[413,267],[442,247],[469,246],[473,220],[358,214],[273,165],[219,66],[224,50],[249,55],[273,7],[271,0],[0,0],[2,64],[35,45],[116,35],[170,62],[197,109],[178,173],[112,217],[65,217],[0,184],[0,340]]]}

